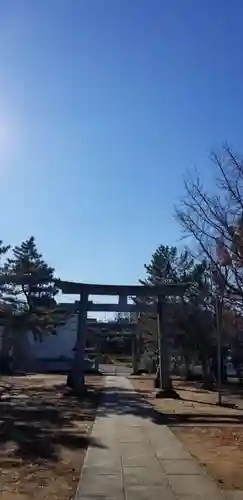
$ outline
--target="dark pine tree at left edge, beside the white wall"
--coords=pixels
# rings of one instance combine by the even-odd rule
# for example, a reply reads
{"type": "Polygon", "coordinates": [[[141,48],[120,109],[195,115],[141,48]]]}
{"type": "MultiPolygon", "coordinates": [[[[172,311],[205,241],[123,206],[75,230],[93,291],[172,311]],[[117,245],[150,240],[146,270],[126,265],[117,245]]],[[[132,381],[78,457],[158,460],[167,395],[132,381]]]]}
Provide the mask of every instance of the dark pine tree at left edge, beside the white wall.
{"type": "Polygon", "coordinates": [[[54,269],[43,259],[33,236],[12,249],[3,268],[5,274],[16,275],[20,281],[24,278],[23,284],[12,282],[4,287],[5,301],[11,304],[7,322],[12,333],[14,357],[20,359],[28,331],[35,340],[42,340],[44,334],[56,333],[66,315],[56,305],[58,288],[54,269]]]}

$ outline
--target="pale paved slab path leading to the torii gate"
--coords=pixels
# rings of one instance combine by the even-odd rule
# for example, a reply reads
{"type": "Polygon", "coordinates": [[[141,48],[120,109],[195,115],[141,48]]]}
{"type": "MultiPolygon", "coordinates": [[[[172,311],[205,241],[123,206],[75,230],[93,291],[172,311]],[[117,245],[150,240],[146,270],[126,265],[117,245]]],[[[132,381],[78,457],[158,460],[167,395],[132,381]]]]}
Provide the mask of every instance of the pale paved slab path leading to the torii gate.
{"type": "Polygon", "coordinates": [[[106,377],[75,500],[225,498],[125,377],[106,377]]]}

